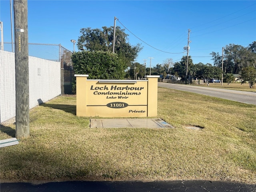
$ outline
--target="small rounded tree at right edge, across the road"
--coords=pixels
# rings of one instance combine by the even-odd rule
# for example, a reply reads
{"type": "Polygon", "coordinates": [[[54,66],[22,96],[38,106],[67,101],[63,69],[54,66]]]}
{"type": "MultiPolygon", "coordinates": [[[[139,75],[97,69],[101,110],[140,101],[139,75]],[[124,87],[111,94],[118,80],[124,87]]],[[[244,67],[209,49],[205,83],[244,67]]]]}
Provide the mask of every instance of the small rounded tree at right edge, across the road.
{"type": "Polygon", "coordinates": [[[256,84],[256,68],[253,66],[244,68],[241,73],[241,78],[241,84],[248,82],[250,88],[253,88],[254,84],[256,84]]]}

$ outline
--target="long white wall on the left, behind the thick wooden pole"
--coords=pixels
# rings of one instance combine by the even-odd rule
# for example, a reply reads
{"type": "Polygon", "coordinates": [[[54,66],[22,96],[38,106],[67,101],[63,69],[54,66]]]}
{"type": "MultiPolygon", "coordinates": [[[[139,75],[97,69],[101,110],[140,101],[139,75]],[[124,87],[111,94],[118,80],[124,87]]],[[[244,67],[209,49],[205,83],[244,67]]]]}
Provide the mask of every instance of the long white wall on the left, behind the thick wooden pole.
{"type": "MultiPolygon", "coordinates": [[[[60,62],[29,57],[29,106],[61,94],[60,62]]],[[[15,116],[15,54],[0,50],[0,122],[15,116]]]]}

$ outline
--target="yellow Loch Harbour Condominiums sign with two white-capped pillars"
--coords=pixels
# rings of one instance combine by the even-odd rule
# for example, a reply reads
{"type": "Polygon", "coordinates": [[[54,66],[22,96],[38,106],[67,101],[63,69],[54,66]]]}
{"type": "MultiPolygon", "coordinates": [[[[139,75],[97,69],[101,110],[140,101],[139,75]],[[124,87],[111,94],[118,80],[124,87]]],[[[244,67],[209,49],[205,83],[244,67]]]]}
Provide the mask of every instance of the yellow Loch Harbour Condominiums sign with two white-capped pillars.
{"type": "Polygon", "coordinates": [[[157,115],[159,76],[146,80],[88,80],[76,76],[76,115],[147,117],[157,115]]]}

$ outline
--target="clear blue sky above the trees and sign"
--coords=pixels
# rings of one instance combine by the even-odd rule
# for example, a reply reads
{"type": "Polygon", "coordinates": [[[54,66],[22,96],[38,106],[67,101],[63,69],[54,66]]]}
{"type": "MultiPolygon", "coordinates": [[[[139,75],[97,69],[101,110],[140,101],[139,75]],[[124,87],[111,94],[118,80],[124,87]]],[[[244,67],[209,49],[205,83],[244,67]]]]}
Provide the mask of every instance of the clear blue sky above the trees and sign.
{"type": "MultiPolygon", "coordinates": [[[[168,58],[176,62],[186,56],[183,48],[188,44],[188,29],[194,64],[212,64],[210,53],[221,54],[228,44],[247,47],[256,41],[254,0],[28,0],[28,42],[62,44],[72,51],[70,40],[78,40],[81,28],[114,26],[115,16],[117,26],[132,32],[125,30],[130,44],[142,44],[136,62],[143,64],[146,59],[147,67],[148,57],[154,57],[151,66],[156,66],[168,58]]],[[[0,0],[0,20],[4,42],[11,42],[10,0],[0,0]]]]}

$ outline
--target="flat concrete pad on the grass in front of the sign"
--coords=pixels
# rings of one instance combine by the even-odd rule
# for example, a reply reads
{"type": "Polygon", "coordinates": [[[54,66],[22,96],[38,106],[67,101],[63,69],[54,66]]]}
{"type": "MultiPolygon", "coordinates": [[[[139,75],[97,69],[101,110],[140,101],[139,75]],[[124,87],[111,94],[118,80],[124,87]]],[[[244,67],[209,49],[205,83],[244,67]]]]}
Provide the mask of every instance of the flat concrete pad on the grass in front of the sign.
{"type": "Polygon", "coordinates": [[[90,119],[91,128],[174,128],[162,119],[90,119]]]}

